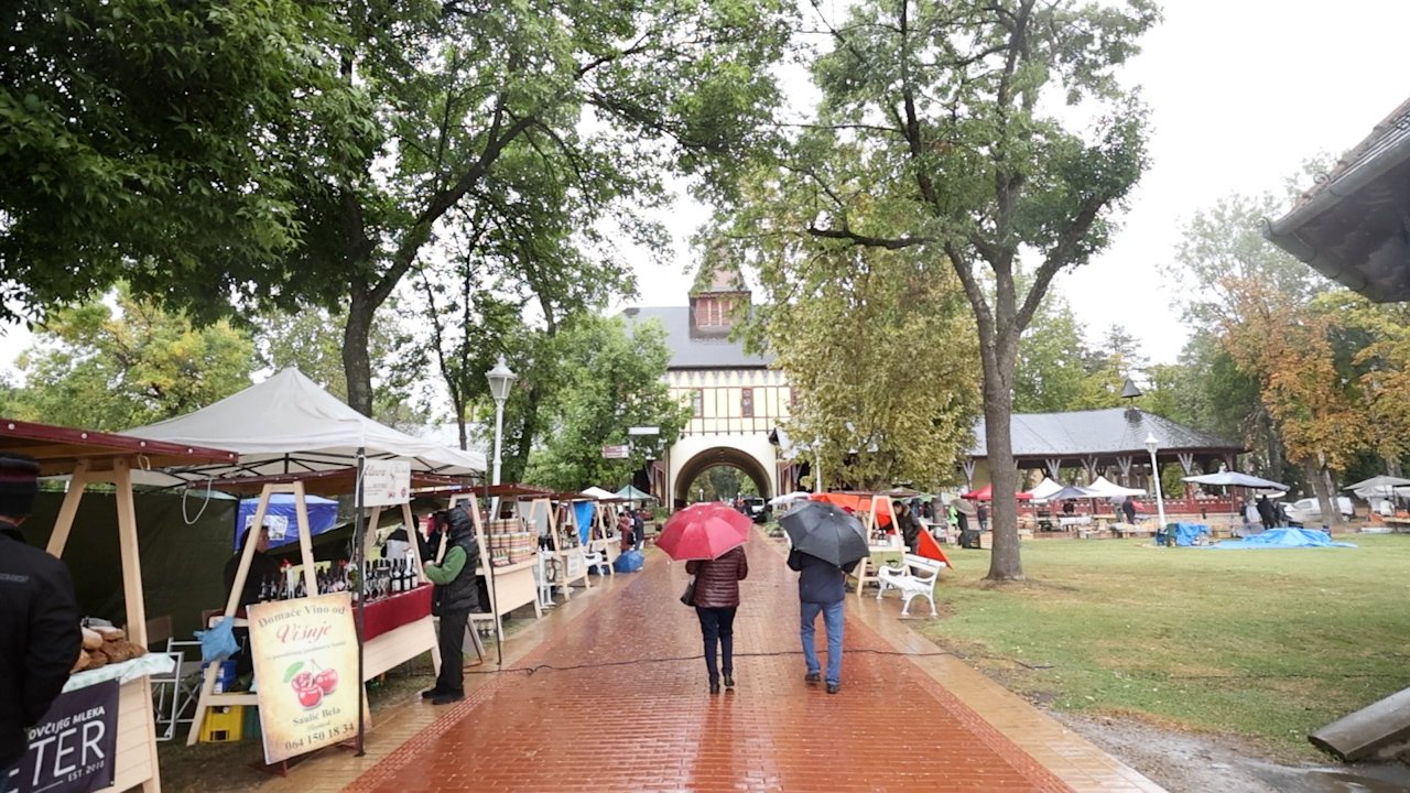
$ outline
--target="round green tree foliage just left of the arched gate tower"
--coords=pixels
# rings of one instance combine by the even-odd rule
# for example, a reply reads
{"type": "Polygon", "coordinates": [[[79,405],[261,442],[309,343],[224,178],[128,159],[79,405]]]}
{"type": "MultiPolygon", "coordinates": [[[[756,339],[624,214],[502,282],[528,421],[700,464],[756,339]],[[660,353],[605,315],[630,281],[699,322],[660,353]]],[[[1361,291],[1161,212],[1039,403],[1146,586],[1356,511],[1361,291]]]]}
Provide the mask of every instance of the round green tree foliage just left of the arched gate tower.
{"type": "Polygon", "coordinates": [[[658,323],[629,333],[619,317],[580,317],[553,340],[563,378],[543,405],[548,420],[525,480],[560,491],[626,484],[632,471],[658,460],[689,419],[666,387],[670,350],[658,323]],[[656,426],[657,436],[629,437],[627,428],[656,426]],[[602,446],[632,443],[627,460],[603,460],[602,446]]]}

